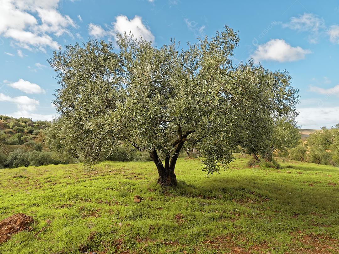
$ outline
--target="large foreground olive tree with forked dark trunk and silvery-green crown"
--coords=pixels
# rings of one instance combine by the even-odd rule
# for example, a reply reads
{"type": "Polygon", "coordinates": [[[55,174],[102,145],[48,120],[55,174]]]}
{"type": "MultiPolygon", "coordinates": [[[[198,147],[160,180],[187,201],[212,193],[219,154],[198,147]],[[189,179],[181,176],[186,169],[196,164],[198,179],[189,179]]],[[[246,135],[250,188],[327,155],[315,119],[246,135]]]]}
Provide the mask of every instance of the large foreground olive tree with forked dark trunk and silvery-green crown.
{"type": "Polygon", "coordinates": [[[60,118],[46,135],[54,139],[50,146],[86,163],[107,158],[122,143],[134,146],[149,153],[158,183],[169,186],[177,184],[175,165],[187,144],[199,147],[208,174],[218,172],[232,161],[250,117],[270,115],[261,107],[271,105],[267,100],[281,87],[270,90],[270,97],[261,83],[285,84],[280,72],[234,68],[238,41],[225,26],[187,50],[178,50],[175,40],[156,48],[126,34],[117,35],[117,52],[111,43],[93,40],[60,48],[49,61],[60,84],[54,100],[60,118]]]}

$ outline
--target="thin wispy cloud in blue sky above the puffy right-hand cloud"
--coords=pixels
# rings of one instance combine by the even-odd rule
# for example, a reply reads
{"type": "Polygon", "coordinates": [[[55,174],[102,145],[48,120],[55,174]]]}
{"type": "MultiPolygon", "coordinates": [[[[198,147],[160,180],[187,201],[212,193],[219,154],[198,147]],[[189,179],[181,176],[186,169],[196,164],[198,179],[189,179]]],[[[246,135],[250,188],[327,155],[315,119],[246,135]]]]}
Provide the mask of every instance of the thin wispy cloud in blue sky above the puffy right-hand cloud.
{"type": "Polygon", "coordinates": [[[299,32],[310,32],[311,34],[308,37],[308,40],[311,43],[317,43],[320,31],[325,29],[325,22],[324,19],[319,18],[317,15],[304,13],[299,17],[292,17],[290,22],[282,24],[282,26],[299,32]]]}

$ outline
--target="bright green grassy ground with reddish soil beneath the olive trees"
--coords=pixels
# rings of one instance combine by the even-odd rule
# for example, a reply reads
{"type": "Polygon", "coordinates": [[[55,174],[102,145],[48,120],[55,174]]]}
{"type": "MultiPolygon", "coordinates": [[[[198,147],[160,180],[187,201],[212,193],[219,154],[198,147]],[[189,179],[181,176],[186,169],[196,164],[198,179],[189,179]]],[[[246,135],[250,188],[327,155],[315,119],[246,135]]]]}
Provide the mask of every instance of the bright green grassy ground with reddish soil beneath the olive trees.
{"type": "Polygon", "coordinates": [[[338,253],[339,168],[247,161],[207,178],[180,159],[175,189],[156,185],[152,162],[2,169],[0,220],[22,212],[35,224],[0,253],[338,253]]]}

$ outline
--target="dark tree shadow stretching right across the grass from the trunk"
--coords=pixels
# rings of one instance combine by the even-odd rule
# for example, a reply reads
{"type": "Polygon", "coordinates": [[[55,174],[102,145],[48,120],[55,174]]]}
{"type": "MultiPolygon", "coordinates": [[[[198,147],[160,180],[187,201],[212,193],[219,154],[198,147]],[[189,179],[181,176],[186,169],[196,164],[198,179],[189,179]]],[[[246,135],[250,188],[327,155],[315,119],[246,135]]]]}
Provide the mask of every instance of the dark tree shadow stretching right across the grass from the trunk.
{"type": "Polygon", "coordinates": [[[339,210],[339,186],[324,182],[310,186],[308,182],[294,179],[292,175],[291,179],[251,178],[250,175],[211,177],[197,186],[179,182],[170,193],[206,200],[222,199],[253,208],[270,207],[285,214],[317,213],[330,216],[339,210]]]}

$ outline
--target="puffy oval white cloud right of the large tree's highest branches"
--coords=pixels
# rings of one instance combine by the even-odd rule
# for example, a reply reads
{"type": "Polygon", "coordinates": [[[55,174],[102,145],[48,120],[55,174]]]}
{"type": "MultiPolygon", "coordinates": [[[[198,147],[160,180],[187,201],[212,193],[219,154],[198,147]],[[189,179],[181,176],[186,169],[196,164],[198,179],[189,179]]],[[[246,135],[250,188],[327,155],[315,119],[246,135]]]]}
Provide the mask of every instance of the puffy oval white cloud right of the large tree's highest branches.
{"type": "Polygon", "coordinates": [[[265,44],[259,45],[255,52],[251,55],[255,62],[262,60],[293,62],[305,58],[306,54],[311,53],[310,50],[301,47],[292,47],[281,39],[272,39],[265,44]]]}

